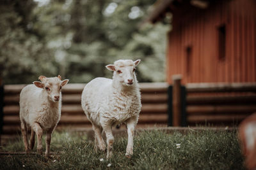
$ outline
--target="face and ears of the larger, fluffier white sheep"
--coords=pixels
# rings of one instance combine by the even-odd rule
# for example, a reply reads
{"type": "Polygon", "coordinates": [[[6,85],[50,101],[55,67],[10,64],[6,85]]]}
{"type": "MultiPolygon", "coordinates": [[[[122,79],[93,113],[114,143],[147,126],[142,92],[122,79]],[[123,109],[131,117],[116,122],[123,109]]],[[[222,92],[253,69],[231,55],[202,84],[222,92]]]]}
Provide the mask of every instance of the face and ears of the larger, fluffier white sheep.
{"type": "Polygon", "coordinates": [[[114,71],[115,80],[125,86],[132,86],[136,82],[136,66],[140,60],[117,60],[114,64],[106,66],[110,71],[114,71]]]}

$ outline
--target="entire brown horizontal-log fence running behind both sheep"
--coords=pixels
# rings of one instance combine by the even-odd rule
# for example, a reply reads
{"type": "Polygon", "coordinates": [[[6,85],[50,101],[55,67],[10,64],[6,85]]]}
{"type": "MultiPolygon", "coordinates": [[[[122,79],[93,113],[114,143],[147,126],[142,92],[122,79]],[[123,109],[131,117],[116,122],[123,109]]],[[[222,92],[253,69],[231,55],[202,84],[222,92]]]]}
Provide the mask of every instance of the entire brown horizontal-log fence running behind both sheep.
{"type": "MultiPolygon", "coordinates": [[[[92,127],[81,108],[84,85],[68,84],[63,88],[57,129],[92,127]]],[[[0,88],[2,139],[20,133],[19,94],[24,86],[0,88]]],[[[256,112],[256,83],[188,83],[185,87],[180,84],[180,77],[174,76],[173,85],[140,83],[140,87],[142,108],[138,127],[230,125],[256,112]]]]}

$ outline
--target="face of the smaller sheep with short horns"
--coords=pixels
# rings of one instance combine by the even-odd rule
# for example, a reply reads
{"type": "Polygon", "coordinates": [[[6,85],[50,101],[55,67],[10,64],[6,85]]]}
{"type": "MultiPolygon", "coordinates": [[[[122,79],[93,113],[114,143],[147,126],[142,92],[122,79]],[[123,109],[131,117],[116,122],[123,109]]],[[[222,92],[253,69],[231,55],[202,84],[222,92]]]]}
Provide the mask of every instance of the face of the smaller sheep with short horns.
{"type": "Polygon", "coordinates": [[[48,99],[53,102],[58,102],[61,100],[61,89],[63,86],[67,85],[68,80],[61,81],[61,76],[47,78],[45,76],[39,76],[40,81],[34,81],[34,85],[44,90],[47,94],[48,99]]]}

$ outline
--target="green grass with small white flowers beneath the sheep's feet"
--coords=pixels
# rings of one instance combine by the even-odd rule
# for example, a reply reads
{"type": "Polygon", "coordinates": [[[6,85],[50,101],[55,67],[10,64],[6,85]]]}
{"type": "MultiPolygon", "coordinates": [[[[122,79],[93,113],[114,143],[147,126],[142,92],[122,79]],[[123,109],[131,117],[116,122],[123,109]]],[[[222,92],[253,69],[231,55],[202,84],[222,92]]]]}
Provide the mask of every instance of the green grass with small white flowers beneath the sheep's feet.
{"type": "MultiPolygon", "coordinates": [[[[54,132],[47,159],[42,155],[1,155],[1,169],[244,169],[236,132],[138,132],[134,155],[125,157],[127,138],[115,138],[113,157],[95,153],[92,141],[78,133],[54,132]],[[104,159],[100,161],[100,159],[104,159]]],[[[36,147],[35,147],[36,148],[36,147]]],[[[34,150],[35,150],[34,148],[34,150]]],[[[45,148],[45,145],[44,145],[45,148]]],[[[21,138],[1,148],[23,151],[21,138]]]]}

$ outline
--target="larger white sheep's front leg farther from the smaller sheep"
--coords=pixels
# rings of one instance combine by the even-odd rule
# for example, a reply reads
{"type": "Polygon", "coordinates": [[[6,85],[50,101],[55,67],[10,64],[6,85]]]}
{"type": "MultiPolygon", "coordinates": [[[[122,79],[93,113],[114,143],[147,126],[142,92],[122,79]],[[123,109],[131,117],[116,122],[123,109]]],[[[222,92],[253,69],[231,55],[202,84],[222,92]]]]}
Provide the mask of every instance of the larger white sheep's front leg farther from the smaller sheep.
{"type": "Polygon", "coordinates": [[[134,129],[137,124],[136,118],[129,118],[127,120],[127,134],[128,134],[128,144],[126,148],[125,156],[131,158],[133,154],[133,136],[134,136],[134,129]]]}

